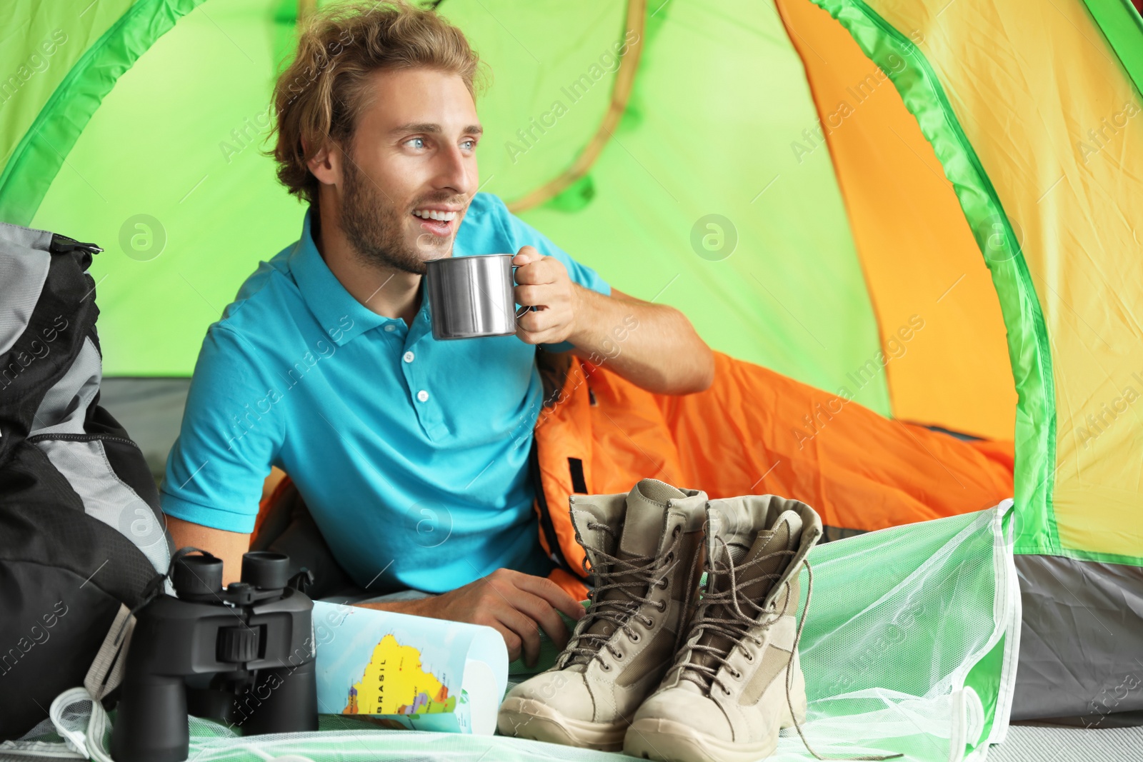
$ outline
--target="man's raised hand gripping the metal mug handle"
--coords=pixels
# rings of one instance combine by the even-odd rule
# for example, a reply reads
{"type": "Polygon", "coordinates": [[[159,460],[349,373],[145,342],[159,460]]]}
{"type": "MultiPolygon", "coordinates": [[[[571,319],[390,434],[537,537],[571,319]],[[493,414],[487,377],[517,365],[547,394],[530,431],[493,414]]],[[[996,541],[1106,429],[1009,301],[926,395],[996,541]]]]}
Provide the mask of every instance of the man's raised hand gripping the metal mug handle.
{"type": "Polygon", "coordinates": [[[563,263],[541,256],[535,247],[525,246],[512,257],[515,271],[515,300],[520,306],[539,307],[517,319],[515,335],[527,344],[559,344],[575,330],[580,312],[578,288],[568,276],[563,263]]]}

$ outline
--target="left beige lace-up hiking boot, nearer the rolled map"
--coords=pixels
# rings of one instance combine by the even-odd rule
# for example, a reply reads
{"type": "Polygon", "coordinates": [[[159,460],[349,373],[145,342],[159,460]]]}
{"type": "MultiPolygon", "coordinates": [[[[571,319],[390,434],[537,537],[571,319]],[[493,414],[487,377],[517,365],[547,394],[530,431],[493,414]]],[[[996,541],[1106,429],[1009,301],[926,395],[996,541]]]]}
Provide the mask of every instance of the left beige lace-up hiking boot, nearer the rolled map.
{"type": "Polygon", "coordinates": [[[555,666],[509,691],[497,727],[504,736],[618,751],[685,634],[706,494],[644,479],[628,495],[570,502],[591,562],[591,605],[555,666]]]}

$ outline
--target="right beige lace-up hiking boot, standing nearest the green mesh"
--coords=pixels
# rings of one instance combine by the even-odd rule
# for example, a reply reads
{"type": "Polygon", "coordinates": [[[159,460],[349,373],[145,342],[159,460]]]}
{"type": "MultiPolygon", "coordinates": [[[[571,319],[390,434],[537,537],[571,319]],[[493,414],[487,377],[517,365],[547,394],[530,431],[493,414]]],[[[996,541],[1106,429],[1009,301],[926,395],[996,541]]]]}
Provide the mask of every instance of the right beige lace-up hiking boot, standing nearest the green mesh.
{"type": "Polygon", "coordinates": [[[711,500],[706,514],[706,591],[662,685],[632,719],[631,756],[754,762],[793,724],[791,706],[806,716],[798,572],[822,520],[773,495],[711,500]]]}

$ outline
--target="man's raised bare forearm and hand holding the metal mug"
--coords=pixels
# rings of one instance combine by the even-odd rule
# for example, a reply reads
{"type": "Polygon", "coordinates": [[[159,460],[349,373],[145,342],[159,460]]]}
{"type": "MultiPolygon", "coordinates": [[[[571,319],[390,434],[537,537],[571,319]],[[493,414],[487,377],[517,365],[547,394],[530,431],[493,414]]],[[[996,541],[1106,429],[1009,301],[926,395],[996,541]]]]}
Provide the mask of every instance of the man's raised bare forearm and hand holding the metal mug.
{"type": "Polygon", "coordinates": [[[536,305],[519,319],[517,335],[528,344],[572,342],[574,354],[606,361],[620,376],[660,394],[702,392],[714,380],[714,354],[687,318],[612,289],[604,296],[572,281],[555,257],[526,246],[512,259],[515,300],[536,305]]]}

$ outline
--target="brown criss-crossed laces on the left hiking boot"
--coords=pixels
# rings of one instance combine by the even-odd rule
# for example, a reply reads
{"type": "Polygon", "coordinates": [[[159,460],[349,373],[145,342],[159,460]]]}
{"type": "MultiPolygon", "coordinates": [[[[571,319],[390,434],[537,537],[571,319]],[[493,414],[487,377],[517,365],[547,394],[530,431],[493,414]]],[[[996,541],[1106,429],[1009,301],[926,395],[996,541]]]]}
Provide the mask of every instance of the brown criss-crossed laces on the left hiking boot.
{"type": "MultiPolygon", "coordinates": [[[[588,529],[598,529],[610,535],[613,539],[615,538],[615,530],[607,524],[592,522],[588,524],[588,529]]],[[[639,640],[639,634],[631,627],[632,617],[638,617],[648,627],[654,624],[650,617],[639,613],[639,609],[652,602],[648,597],[650,591],[655,587],[666,587],[668,576],[680,562],[678,550],[681,534],[682,528],[676,527],[671,535],[671,544],[661,555],[629,554],[629,558],[621,559],[604,551],[596,551],[599,568],[590,570],[588,559],[583,560],[584,573],[594,575],[596,586],[588,593],[591,603],[576,627],[577,634],[573,635],[572,642],[563,649],[560,668],[573,664],[589,664],[592,659],[599,659],[605,668],[609,668],[600,653],[601,649],[606,648],[616,658],[623,657],[618,649],[610,643],[612,635],[622,629],[632,640],[639,640]],[[602,594],[612,589],[620,591],[623,597],[604,600],[602,594]],[[640,594],[641,591],[646,591],[646,594],[640,594]],[[594,623],[600,620],[612,623],[615,625],[615,629],[610,633],[588,632],[594,623]]],[[[666,607],[660,603],[658,609],[665,611],[666,607]]]]}

